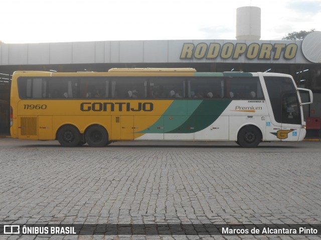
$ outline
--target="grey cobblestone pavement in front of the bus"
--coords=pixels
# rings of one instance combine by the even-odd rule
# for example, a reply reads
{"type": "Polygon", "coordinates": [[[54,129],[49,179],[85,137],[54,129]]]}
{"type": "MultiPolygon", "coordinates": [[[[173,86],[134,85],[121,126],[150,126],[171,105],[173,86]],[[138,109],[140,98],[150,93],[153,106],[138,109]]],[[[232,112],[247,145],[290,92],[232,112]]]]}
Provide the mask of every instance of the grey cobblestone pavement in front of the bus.
{"type": "MultiPolygon", "coordinates": [[[[321,142],[311,144],[321,146],[321,142]]],[[[231,149],[0,145],[0,223],[321,223],[320,152],[304,152],[304,148],[294,152],[292,147],[231,149]]],[[[0,236],[0,240],[18,238],[0,236]]],[[[320,236],[20,236],[35,238],[320,236]]]]}

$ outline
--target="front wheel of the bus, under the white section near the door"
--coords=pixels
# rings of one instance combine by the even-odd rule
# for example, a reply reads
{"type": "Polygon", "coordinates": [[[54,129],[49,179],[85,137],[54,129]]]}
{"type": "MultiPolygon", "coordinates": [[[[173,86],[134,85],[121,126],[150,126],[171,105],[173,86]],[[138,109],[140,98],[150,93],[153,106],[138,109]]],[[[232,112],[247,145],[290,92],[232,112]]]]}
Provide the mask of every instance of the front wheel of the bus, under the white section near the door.
{"type": "Polygon", "coordinates": [[[237,142],[242,147],[257,147],[262,134],[256,126],[244,126],[237,134],[237,142]]]}

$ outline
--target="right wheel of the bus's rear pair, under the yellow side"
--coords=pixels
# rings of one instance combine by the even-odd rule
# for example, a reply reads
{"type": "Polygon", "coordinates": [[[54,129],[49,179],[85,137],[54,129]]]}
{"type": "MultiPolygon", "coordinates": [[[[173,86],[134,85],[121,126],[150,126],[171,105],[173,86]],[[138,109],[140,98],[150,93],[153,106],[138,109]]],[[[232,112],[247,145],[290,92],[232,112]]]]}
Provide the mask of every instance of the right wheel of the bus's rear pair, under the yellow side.
{"type": "Polygon", "coordinates": [[[85,132],[85,139],[89,146],[103,147],[109,143],[108,132],[101,125],[92,125],[85,132]]]}

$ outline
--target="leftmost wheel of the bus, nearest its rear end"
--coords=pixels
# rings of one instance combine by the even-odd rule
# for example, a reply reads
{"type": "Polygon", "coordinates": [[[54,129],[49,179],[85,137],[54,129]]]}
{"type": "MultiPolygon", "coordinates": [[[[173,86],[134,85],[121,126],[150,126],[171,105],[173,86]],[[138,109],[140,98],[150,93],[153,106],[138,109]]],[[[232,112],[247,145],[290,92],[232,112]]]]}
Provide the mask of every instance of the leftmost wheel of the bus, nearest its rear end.
{"type": "Polygon", "coordinates": [[[64,125],[57,132],[57,139],[62,146],[77,146],[81,140],[81,134],[77,127],[64,125]]]}

